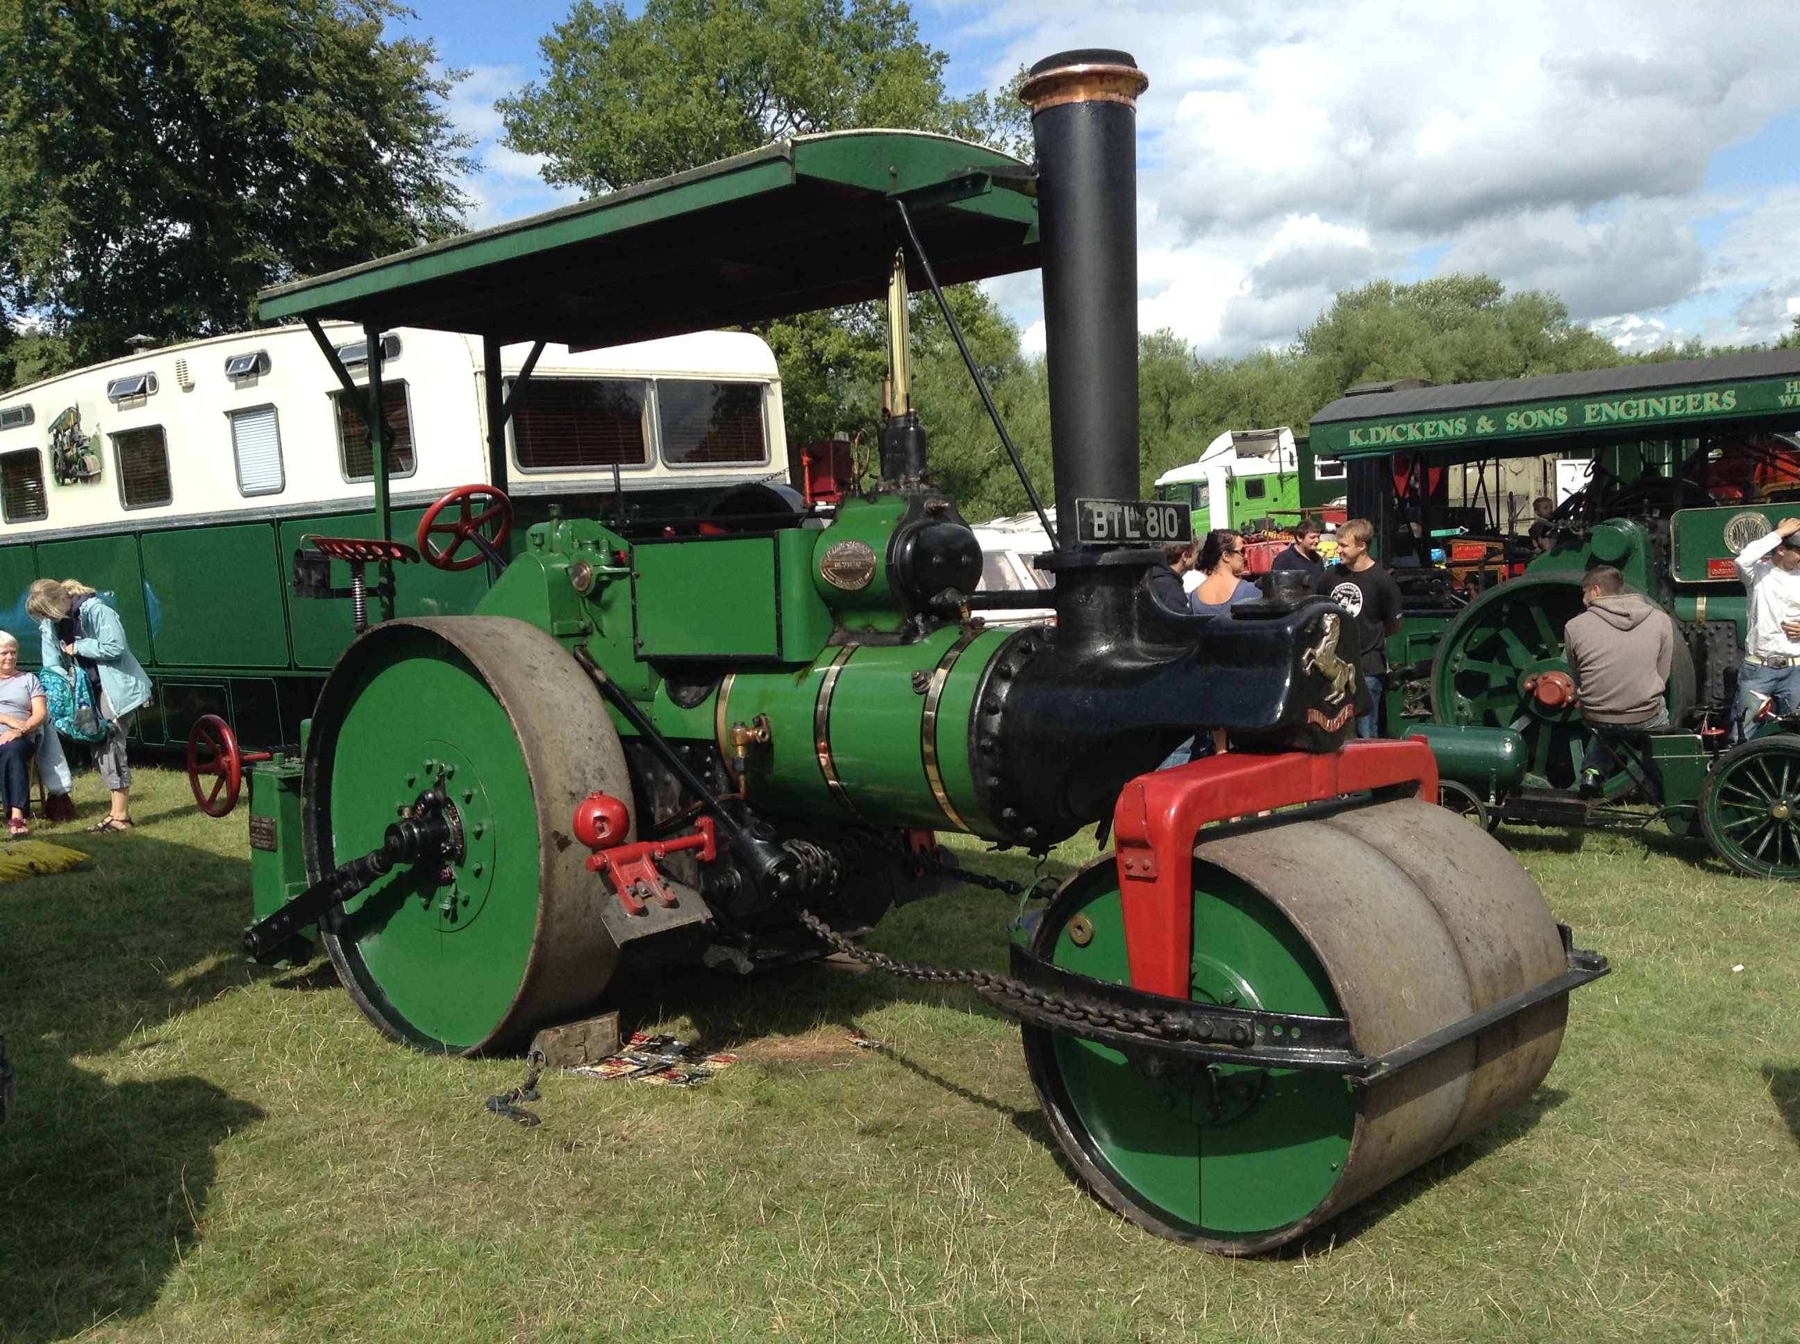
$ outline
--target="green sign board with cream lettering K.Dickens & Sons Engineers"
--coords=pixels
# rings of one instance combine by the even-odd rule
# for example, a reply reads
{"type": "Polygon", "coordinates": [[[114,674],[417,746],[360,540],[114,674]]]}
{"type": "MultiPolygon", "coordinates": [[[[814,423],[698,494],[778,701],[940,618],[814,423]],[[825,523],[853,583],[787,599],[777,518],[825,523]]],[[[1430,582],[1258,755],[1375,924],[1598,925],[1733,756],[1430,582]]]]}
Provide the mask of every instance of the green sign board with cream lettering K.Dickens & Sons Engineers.
{"type": "Polygon", "coordinates": [[[1399,416],[1391,421],[1345,425],[1323,423],[1312,426],[1312,450],[1319,457],[1357,455],[1363,448],[1408,450],[1424,444],[1449,446],[1456,441],[1555,437],[1589,430],[1600,425],[1643,425],[1654,434],[1663,421],[1696,421],[1714,416],[1780,416],[1791,408],[1800,416],[1800,380],[1759,378],[1739,383],[1715,383],[1699,389],[1670,389],[1656,394],[1633,394],[1618,399],[1575,398],[1570,401],[1534,401],[1456,412],[1433,412],[1420,417],[1399,416]]]}

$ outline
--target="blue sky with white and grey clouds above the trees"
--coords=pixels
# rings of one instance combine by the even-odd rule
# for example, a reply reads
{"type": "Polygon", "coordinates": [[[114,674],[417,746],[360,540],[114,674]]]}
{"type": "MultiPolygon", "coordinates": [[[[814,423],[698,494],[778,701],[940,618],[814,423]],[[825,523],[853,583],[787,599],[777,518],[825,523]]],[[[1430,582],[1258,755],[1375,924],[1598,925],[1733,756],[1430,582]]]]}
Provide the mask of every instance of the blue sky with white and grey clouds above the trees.
{"type": "MultiPolygon", "coordinates": [[[[497,144],[567,0],[412,0],[468,68],[473,223],[569,193],[497,144]]],[[[630,5],[637,9],[637,5],[630,5]]],[[[1627,349],[1771,340],[1800,313],[1800,4],[916,0],[952,92],[1123,47],[1139,104],[1139,322],[1280,345],[1375,277],[1557,290],[1627,349]]],[[[1035,275],[995,284],[1037,336],[1035,275]]]]}

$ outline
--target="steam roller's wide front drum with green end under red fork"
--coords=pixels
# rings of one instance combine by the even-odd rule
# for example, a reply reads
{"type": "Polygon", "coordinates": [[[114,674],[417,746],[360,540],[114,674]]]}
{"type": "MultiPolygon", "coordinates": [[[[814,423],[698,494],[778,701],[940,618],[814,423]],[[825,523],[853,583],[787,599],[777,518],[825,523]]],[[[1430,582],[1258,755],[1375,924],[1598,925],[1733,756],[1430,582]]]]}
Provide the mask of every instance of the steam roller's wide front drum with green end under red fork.
{"type": "MultiPolygon", "coordinates": [[[[1384,1054],[1568,970],[1557,923],[1492,837],[1418,799],[1242,829],[1193,862],[1190,997],[1341,1017],[1384,1054]]],[[[1067,882],[1031,952],[1130,982],[1118,865],[1067,882]]],[[[1548,999],[1375,1083],[1127,1058],[1024,1029],[1044,1114],[1098,1195],[1233,1256],[1291,1241],[1530,1098],[1562,1040],[1548,999]]]]}

